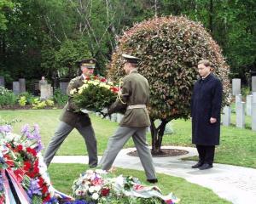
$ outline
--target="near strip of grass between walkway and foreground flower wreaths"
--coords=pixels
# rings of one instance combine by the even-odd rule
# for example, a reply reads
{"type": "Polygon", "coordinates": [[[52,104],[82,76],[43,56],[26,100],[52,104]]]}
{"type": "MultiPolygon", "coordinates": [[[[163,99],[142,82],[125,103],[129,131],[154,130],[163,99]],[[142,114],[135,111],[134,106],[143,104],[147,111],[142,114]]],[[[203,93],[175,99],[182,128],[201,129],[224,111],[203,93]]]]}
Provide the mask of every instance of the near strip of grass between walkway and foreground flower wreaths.
{"type": "MultiPolygon", "coordinates": [[[[82,164],[51,164],[49,166],[49,174],[51,182],[57,190],[66,194],[72,194],[73,180],[79,178],[79,174],[84,172],[88,166],[82,164]],[[65,179],[63,179],[65,178],[65,179]],[[70,186],[68,189],[67,186],[70,186]]],[[[145,175],[141,171],[118,168],[116,175],[123,174],[132,175],[139,178],[142,182],[145,181],[145,175]]],[[[181,199],[180,204],[223,204],[230,203],[215,195],[212,190],[203,188],[197,184],[191,184],[183,178],[176,178],[158,173],[159,183],[157,184],[166,195],[173,192],[181,199]]],[[[149,183],[147,183],[149,184],[149,183]]]]}

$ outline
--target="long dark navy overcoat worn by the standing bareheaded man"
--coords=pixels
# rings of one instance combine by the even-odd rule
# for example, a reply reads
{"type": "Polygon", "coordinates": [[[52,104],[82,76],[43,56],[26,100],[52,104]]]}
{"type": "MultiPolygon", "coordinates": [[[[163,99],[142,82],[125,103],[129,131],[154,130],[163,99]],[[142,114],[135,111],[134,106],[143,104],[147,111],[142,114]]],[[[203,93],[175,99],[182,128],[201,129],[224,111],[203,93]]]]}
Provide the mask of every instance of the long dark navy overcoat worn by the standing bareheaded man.
{"type": "Polygon", "coordinates": [[[212,73],[195,82],[191,100],[193,144],[219,144],[222,92],[222,83],[212,73]],[[211,117],[217,122],[211,123],[211,117]]]}

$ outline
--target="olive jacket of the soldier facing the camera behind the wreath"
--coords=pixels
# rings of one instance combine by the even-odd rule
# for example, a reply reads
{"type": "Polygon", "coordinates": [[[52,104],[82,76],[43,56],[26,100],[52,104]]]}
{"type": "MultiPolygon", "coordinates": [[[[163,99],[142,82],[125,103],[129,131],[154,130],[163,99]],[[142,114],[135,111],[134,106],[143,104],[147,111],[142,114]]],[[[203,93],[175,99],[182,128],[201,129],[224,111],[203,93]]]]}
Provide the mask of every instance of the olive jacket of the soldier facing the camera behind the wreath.
{"type": "Polygon", "coordinates": [[[84,77],[81,75],[80,77],[73,78],[68,86],[67,86],[67,95],[68,95],[68,101],[67,105],[63,108],[60,120],[62,122],[66,122],[68,125],[75,127],[75,126],[89,126],[91,125],[90,117],[87,113],[83,113],[81,111],[75,112],[76,108],[73,105],[72,102],[72,95],[70,94],[70,91],[73,88],[79,88],[84,84],[84,77]]]}

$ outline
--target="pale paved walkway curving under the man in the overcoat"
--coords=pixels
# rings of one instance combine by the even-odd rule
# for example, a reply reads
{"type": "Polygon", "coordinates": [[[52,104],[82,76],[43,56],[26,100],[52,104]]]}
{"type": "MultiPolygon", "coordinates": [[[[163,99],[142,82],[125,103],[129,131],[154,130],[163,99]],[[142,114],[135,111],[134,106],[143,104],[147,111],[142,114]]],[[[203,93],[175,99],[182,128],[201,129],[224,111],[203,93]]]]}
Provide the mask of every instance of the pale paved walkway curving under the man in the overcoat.
{"type": "MultiPolygon", "coordinates": [[[[224,164],[214,164],[207,170],[192,169],[195,161],[182,161],[181,158],[197,155],[195,148],[166,146],[187,150],[189,154],[172,157],[154,157],[154,165],[157,173],[185,178],[187,181],[213,190],[218,196],[235,204],[256,203],[256,169],[236,167],[224,164]]],[[[135,150],[129,148],[121,150],[113,166],[143,170],[138,157],[128,156],[127,153],[135,150]]],[[[101,156],[99,156],[99,159],[101,156]]],[[[55,156],[55,163],[88,163],[87,156],[55,156]]]]}

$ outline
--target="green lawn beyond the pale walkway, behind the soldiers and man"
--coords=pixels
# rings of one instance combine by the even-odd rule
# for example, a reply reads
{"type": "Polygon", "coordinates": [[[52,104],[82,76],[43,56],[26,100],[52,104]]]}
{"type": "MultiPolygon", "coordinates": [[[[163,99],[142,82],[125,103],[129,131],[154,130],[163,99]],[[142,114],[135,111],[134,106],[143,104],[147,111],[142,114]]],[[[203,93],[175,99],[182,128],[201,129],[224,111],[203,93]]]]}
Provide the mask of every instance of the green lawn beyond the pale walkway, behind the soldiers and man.
{"type": "MultiPolygon", "coordinates": [[[[38,123],[41,128],[42,140],[45,145],[55,132],[61,110],[26,110],[26,111],[0,111],[0,118],[10,121],[20,119],[15,123],[14,132],[20,133],[20,127],[26,123],[38,123]]],[[[108,137],[113,134],[118,123],[102,120],[94,114],[90,115],[98,141],[98,154],[102,155],[107,147],[108,137]]],[[[250,118],[247,117],[247,120],[250,118]]],[[[191,146],[191,122],[175,120],[172,122],[174,133],[164,136],[164,145],[191,146]]],[[[216,150],[215,162],[233,164],[243,167],[256,168],[256,132],[246,128],[221,127],[220,146],[216,150]]],[[[151,143],[148,133],[148,144],[151,143]]],[[[133,146],[132,140],[126,144],[133,146]]],[[[193,145],[192,145],[193,146],[193,145]]],[[[67,137],[61,145],[58,155],[84,155],[84,141],[76,130],[67,137]]],[[[195,159],[195,158],[192,158],[195,159]]]]}

